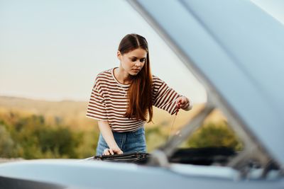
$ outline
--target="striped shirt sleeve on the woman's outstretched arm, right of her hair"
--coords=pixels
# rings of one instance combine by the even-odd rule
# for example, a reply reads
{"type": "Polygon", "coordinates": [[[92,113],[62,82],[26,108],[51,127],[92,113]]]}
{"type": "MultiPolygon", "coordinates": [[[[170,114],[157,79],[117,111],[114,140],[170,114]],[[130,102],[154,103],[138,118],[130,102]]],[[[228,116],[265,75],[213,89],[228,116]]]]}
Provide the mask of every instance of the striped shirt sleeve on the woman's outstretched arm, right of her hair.
{"type": "Polygon", "coordinates": [[[175,99],[180,96],[165,81],[162,81],[157,76],[153,76],[153,105],[155,107],[166,110],[170,115],[173,115],[177,111],[175,99]]]}

